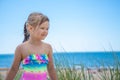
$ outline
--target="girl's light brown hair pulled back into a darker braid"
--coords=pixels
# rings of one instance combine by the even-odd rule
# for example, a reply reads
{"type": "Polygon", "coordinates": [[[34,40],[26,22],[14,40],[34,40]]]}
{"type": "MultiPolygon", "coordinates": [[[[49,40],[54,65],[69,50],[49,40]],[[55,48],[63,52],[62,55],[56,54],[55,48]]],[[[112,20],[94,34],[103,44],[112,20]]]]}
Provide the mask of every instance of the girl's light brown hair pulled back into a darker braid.
{"type": "Polygon", "coordinates": [[[24,24],[24,40],[23,42],[27,41],[29,39],[29,32],[27,31],[27,24],[31,25],[32,27],[36,27],[38,25],[41,25],[43,22],[49,21],[48,17],[45,16],[42,13],[33,12],[28,16],[27,21],[24,24]]]}

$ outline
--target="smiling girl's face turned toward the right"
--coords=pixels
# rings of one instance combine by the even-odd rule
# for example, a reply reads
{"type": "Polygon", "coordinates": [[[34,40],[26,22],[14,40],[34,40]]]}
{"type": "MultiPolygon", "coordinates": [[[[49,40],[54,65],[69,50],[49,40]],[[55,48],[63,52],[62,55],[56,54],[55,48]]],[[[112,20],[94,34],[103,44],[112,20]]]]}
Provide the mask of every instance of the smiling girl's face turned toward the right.
{"type": "Polygon", "coordinates": [[[46,36],[48,35],[48,29],[49,29],[49,22],[45,21],[41,25],[36,26],[36,28],[33,30],[33,37],[38,40],[44,40],[46,36]]]}

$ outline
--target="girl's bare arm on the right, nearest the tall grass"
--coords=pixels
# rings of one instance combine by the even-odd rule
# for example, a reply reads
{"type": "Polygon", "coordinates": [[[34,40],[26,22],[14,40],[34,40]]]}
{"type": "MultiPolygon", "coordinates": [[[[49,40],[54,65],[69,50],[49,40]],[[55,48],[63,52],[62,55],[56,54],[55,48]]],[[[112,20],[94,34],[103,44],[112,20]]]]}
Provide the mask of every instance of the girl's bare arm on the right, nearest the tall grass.
{"type": "Polygon", "coordinates": [[[48,58],[49,58],[49,63],[48,63],[48,73],[49,73],[49,76],[50,76],[50,79],[51,80],[58,80],[57,79],[57,74],[56,74],[56,71],[55,71],[55,68],[54,68],[54,64],[53,64],[53,58],[52,58],[52,47],[50,46],[50,49],[49,49],[49,54],[48,54],[48,58]]]}

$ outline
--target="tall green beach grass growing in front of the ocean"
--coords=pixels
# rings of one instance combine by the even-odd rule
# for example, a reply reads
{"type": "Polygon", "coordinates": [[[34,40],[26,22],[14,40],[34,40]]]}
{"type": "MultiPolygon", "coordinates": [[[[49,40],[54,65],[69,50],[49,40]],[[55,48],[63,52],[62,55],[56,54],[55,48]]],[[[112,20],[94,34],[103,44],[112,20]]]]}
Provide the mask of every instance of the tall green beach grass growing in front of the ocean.
{"type": "MultiPolygon", "coordinates": [[[[108,65],[106,68],[104,62],[101,62],[102,68],[96,67],[95,69],[86,68],[84,64],[77,64],[77,66],[80,66],[77,69],[73,65],[74,57],[67,60],[65,56],[56,56],[54,57],[54,63],[58,80],[120,80],[120,59],[115,53],[113,56],[113,67],[108,65]]],[[[19,70],[15,80],[19,80],[21,74],[22,70],[19,70]]],[[[0,74],[0,80],[4,80],[2,74],[0,74]]]]}

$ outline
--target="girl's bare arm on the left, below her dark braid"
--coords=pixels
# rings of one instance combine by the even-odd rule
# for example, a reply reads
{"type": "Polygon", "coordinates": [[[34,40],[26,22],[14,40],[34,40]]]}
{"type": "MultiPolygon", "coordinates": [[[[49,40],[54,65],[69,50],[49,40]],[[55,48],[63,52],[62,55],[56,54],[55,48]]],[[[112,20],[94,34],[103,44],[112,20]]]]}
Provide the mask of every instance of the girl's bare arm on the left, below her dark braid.
{"type": "Polygon", "coordinates": [[[17,46],[15,50],[14,61],[13,61],[12,67],[8,71],[8,74],[5,80],[14,79],[15,75],[17,74],[17,71],[19,70],[20,62],[21,62],[21,51],[20,51],[20,46],[17,46]]]}

